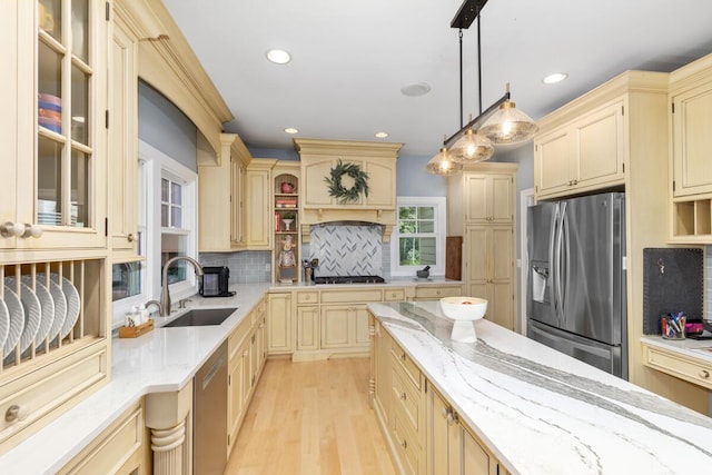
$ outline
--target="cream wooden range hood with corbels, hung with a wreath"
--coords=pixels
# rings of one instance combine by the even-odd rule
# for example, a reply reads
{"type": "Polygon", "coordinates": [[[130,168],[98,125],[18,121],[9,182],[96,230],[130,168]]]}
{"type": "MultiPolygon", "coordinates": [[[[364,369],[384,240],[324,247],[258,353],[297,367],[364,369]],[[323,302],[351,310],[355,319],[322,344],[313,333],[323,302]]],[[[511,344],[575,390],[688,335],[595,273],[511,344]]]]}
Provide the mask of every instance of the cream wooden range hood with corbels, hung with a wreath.
{"type": "MultiPolygon", "coordinates": [[[[312,225],[362,221],[382,225],[383,241],[390,240],[396,225],[396,160],[403,144],[352,140],[294,139],[301,161],[301,240],[308,243],[312,225]],[[368,196],[343,200],[329,194],[328,179],[339,166],[354,166],[367,174],[368,196]]],[[[348,174],[340,177],[346,189],[354,187],[348,174]]]]}

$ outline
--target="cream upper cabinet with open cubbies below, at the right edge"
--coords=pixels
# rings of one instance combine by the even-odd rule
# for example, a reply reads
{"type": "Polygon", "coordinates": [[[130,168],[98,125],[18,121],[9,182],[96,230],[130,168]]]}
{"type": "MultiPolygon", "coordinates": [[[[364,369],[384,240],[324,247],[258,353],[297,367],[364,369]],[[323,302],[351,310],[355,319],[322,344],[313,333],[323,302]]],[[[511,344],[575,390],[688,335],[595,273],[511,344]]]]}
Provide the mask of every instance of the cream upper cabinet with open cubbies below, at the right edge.
{"type": "Polygon", "coordinates": [[[670,75],[671,240],[712,243],[712,56],[670,75]]]}

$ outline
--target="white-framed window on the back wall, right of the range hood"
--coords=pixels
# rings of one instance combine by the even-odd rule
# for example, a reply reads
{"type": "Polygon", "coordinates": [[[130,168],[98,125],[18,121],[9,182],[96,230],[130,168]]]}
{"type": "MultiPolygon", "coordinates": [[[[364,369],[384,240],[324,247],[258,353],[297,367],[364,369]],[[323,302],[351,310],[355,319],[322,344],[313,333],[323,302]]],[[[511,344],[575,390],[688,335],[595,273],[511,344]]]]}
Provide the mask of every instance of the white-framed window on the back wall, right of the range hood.
{"type": "Polygon", "coordinates": [[[390,238],[390,274],[411,276],[425,266],[445,274],[445,198],[398,197],[398,222],[390,238]]]}

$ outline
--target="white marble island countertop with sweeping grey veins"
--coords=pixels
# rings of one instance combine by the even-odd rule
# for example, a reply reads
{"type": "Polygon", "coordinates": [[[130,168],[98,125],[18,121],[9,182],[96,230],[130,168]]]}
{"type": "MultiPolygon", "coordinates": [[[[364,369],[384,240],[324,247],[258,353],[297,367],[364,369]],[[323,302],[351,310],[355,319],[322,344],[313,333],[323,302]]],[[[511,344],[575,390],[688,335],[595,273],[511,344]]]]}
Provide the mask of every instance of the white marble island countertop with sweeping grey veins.
{"type": "Polygon", "coordinates": [[[437,301],[368,308],[512,474],[712,466],[712,418],[488,320],[452,342],[437,301]]]}

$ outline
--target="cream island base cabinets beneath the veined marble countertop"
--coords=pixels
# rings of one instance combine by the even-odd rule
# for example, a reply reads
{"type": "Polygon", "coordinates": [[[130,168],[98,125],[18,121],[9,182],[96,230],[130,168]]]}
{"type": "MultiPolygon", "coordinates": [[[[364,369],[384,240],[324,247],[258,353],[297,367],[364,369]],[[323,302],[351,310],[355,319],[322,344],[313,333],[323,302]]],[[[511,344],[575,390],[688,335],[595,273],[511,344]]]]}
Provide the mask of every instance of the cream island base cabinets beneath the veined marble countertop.
{"type": "Polygon", "coordinates": [[[404,474],[507,475],[508,472],[372,315],[370,403],[404,474]]]}

